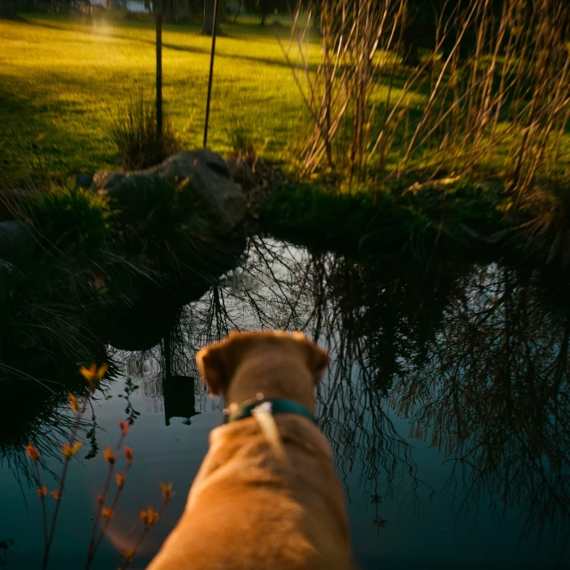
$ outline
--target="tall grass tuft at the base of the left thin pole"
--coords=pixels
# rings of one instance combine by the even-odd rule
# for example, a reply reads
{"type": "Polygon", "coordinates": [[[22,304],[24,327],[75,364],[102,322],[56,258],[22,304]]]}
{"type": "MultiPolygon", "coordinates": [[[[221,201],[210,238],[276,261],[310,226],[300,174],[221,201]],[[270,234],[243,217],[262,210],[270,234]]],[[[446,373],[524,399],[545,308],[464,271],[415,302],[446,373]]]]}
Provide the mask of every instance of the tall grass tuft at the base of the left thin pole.
{"type": "Polygon", "coordinates": [[[143,94],[119,111],[111,137],[121,166],[127,170],[152,167],[182,149],[167,118],[163,119],[162,134],[157,133],[156,107],[143,94]]]}

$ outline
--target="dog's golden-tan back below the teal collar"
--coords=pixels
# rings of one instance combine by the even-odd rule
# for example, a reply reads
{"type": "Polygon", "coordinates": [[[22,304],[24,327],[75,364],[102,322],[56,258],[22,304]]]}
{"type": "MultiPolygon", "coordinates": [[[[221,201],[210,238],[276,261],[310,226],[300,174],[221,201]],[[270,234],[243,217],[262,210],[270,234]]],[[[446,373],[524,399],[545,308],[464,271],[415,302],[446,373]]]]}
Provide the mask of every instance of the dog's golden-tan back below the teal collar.
{"type": "Polygon", "coordinates": [[[346,506],[324,436],[301,415],[274,419],[284,458],[255,418],[212,432],[183,517],[151,570],[350,567],[346,506]]]}

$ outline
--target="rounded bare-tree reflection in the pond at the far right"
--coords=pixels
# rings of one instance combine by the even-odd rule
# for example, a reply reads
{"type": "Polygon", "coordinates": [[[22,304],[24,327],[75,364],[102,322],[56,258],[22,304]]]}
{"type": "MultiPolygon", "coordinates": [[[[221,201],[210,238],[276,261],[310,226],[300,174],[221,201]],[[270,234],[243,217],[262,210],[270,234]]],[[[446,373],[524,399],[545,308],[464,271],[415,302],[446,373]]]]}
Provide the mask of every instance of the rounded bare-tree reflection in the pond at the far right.
{"type": "Polygon", "coordinates": [[[520,507],[525,531],[567,520],[570,315],[545,306],[535,276],[492,265],[464,279],[442,324],[392,394],[411,436],[453,461],[460,509],[520,507]]]}

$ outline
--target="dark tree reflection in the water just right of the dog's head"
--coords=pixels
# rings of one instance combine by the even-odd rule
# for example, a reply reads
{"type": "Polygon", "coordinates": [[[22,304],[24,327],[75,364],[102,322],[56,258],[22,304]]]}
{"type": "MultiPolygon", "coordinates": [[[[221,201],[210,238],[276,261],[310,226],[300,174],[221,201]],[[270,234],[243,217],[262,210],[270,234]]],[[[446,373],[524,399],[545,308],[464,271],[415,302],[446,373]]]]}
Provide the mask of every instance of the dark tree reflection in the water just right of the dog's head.
{"type": "Polygon", "coordinates": [[[315,322],[334,354],[321,398],[329,411],[323,428],[341,468],[361,463],[361,483],[375,505],[383,487],[392,498],[407,490],[418,506],[422,482],[410,444],[387,415],[386,397],[403,362],[424,358],[452,285],[442,273],[426,274],[419,266],[361,264],[338,256],[326,257],[316,280],[315,298],[322,302],[315,322]]]}

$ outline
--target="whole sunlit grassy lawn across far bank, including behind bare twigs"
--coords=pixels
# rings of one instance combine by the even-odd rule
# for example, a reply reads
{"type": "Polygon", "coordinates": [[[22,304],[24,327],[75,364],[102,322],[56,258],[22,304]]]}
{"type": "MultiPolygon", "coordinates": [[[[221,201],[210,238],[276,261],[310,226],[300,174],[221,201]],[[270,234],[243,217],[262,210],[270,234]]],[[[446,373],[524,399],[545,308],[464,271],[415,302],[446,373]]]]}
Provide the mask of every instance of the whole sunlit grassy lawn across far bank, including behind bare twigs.
{"type": "MultiPolygon", "coordinates": [[[[246,16],[240,16],[236,24],[224,23],[224,36],[216,44],[208,136],[208,146],[214,151],[223,155],[232,151],[232,140],[245,130],[265,159],[282,159],[295,167],[297,159],[302,159],[299,142],[308,141],[307,148],[314,144],[314,121],[308,115],[279,41],[289,45],[290,23],[283,20],[281,26],[261,28],[255,18],[246,16]]],[[[312,37],[303,41],[309,77],[314,77],[321,59],[320,40],[312,37]]],[[[163,44],[167,118],[183,146],[196,148],[201,146],[203,136],[211,38],[200,35],[198,24],[167,25],[163,44]]],[[[554,103],[548,100],[549,94],[560,91],[564,85],[558,85],[557,90],[543,87],[542,91],[533,92],[526,84],[531,85],[531,79],[536,80],[541,74],[518,77],[518,91],[509,87],[501,101],[494,85],[500,73],[493,71],[494,84],[489,84],[492,86],[486,97],[492,95],[493,105],[501,101],[496,107],[501,112],[491,113],[491,107],[485,108],[487,99],[481,86],[488,56],[476,60],[472,68],[476,71],[473,77],[479,77],[474,84],[479,86],[472,106],[471,100],[462,96],[468,94],[471,85],[471,68],[445,72],[442,61],[435,58],[415,76],[416,71],[407,66],[395,65],[392,75],[390,66],[377,72],[381,61],[398,61],[396,53],[379,51],[374,61],[376,67],[372,68],[376,75],[367,103],[370,109],[362,124],[364,130],[370,129],[371,136],[369,146],[362,147],[362,156],[370,151],[374,141],[379,141],[380,132],[386,137],[378,147],[374,145],[376,154],[371,151],[366,157],[371,167],[362,180],[348,186],[348,193],[359,193],[358,199],[362,200],[357,204],[335,204],[337,194],[333,191],[329,201],[322,201],[321,194],[332,187],[327,183],[314,183],[314,192],[279,194],[279,199],[273,200],[273,216],[269,216],[273,228],[284,224],[284,229],[291,232],[297,226],[315,232],[315,220],[322,218],[322,227],[331,225],[338,229],[345,206],[350,206],[362,209],[374,219],[372,210],[393,212],[404,233],[415,235],[430,228],[436,240],[442,228],[453,236],[459,235],[462,224],[485,234],[496,232],[503,227],[508,211],[517,224],[522,221],[530,228],[532,240],[539,236],[547,246],[553,236],[566,232],[570,219],[566,215],[570,169],[570,133],[564,115],[567,102],[562,104],[563,98],[558,97],[556,104],[560,109],[554,113],[554,103]],[[440,69],[443,86],[437,90],[434,85],[440,85],[440,69]],[[412,86],[406,87],[411,77],[412,86]],[[436,98],[432,99],[432,94],[436,98]],[[430,107],[431,102],[435,103],[430,107]],[[534,102],[542,115],[536,114],[530,124],[534,102]],[[494,118],[496,128],[491,129],[494,118]],[[483,127],[477,131],[479,125],[483,127]],[[529,134],[531,143],[526,144],[529,134]],[[386,151],[380,164],[383,148],[386,151]],[[405,159],[407,149],[409,160],[405,159]],[[520,149],[525,150],[525,160],[518,163],[517,157],[523,156],[520,149]],[[472,158],[476,161],[472,162],[472,158]],[[515,175],[516,170],[522,175],[515,175]],[[525,193],[516,194],[513,184],[520,183],[526,173],[530,173],[528,183],[521,186],[525,193]],[[374,178],[376,174],[378,178],[374,178]],[[378,183],[382,176],[386,176],[385,181],[378,183]],[[416,183],[446,177],[452,185],[429,190],[425,184],[419,184],[421,190],[415,188],[416,183]],[[518,217],[513,216],[516,208],[509,210],[515,200],[505,189],[517,199],[518,217]],[[387,203],[383,202],[385,199],[387,203]],[[313,214],[307,218],[305,215],[310,212],[313,214]],[[331,224],[337,215],[338,224],[331,224]],[[534,225],[529,225],[531,222],[534,225]]],[[[295,45],[290,54],[293,63],[300,61],[295,45]]],[[[0,20],[0,174],[4,170],[14,183],[37,172],[61,182],[78,171],[118,167],[118,151],[110,136],[112,126],[126,104],[138,99],[142,92],[152,101],[155,57],[151,20],[46,15],[25,15],[17,22],[0,20]]],[[[429,53],[423,57],[430,61],[429,53]]],[[[498,69],[502,64],[498,60],[498,69]]],[[[509,66],[512,65],[511,61],[509,66]]],[[[559,75],[556,68],[550,71],[559,75]]],[[[522,73],[520,69],[518,72],[522,73]]],[[[322,101],[322,74],[320,77],[314,97],[317,108],[322,101]]],[[[304,85],[308,97],[304,70],[297,73],[297,80],[304,85]]],[[[337,110],[342,106],[342,99],[339,101],[333,103],[337,110]]],[[[354,116],[354,109],[346,111],[333,142],[334,167],[339,167],[343,174],[349,164],[348,142],[355,140],[351,138],[354,116]]],[[[311,181],[322,174],[315,172],[311,181]]],[[[344,191],[346,184],[338,188],[344,191]]],[[[383,218],[378,220],[385,222],[383,218]]],[[[358,212],[354,216],[355,234],[362,233],[356,231],[362,224],[358,212]]],[[[376,236],[377,240],[379,229],[363,225],[365,234],[376,236]]],[[[361,237],[358,235],[358,243],[361,237]]]]}

